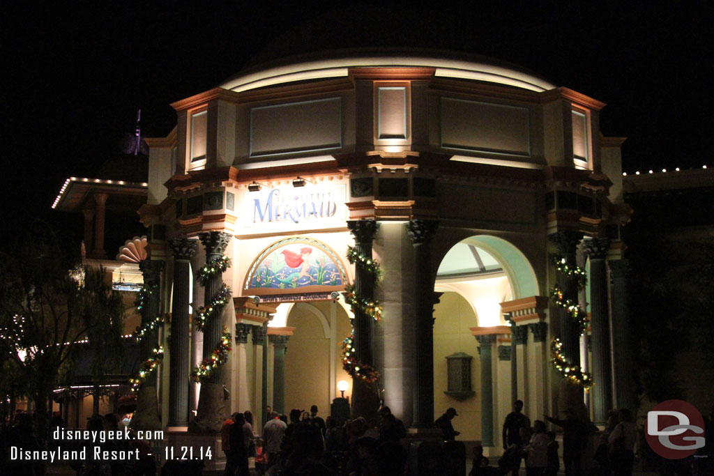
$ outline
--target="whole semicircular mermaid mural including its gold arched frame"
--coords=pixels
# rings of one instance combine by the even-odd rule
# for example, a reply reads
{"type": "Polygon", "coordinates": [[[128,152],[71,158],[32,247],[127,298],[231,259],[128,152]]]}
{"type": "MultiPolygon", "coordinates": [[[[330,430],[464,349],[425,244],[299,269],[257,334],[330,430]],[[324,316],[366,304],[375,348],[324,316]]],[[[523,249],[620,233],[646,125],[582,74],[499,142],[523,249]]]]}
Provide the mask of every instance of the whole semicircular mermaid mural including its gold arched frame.
{"type": "Polygon", "coordinates": [[[258,255],[246,276],[243,294],[273,295],[341,291],[346,272],[336,253],[312,238],[288,238],[258,255]]]}

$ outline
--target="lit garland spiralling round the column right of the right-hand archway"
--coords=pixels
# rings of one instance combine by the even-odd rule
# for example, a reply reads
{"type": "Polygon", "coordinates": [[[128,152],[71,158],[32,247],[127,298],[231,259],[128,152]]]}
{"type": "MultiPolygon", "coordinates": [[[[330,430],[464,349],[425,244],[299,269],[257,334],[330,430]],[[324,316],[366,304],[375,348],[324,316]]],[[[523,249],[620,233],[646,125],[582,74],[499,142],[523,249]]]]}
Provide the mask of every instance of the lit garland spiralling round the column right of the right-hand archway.
{"type": "MultiPolygon", "coordinates": [[[[557,270],[560,275],[565,275],[566,279],[575,279],[578,284],[578,290],[585,288],[585,284],[588,283],[588,275],[583,268],[577,265],[570,265],[568,260],[561,255],[554,255],[552,260],[555,270],[557,270]]],[[[588,330],[588,324],[590,323],[588,313],[586,313],[583,308],[580,308],[580,303],[576,303],[572,299],[566,299],[565,293],[563,293],[563,289],[560,288],[559,285],[556,284],[553,286],[553,289],[550,290],[550,299],[553,300],[555,305],[565,310],[566,318],[572,319],[578,324],[578,329],[580,330],[579,335],[583,335],[583,333],[588,330]]],[[[554,338],[550,344],[550,355],[550,362],[553,363],[555,369],[558,370],[564,378],[568,379],[570,383],[580,385],[585,388],[585,390],[588,390],[594,385],[590,373],[583,372],[579,365],[573,365],[565,358],[563,354],[563,343],[560,342],[559,338],[554,338]]]]}

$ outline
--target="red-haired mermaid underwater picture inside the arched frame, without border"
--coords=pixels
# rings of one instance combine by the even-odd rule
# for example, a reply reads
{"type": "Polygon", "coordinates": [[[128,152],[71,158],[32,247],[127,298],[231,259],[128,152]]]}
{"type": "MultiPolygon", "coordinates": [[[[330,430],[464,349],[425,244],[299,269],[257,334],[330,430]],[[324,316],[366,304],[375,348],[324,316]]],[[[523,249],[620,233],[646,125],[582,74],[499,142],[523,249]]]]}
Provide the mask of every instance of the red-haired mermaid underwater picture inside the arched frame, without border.
{"type": "Polygon", "coordinates": [[[266,255],[251,275],[250,288],[302,288],[339,286],[341,275],[333,260],[319,248],[278,248],[266,255]]]}

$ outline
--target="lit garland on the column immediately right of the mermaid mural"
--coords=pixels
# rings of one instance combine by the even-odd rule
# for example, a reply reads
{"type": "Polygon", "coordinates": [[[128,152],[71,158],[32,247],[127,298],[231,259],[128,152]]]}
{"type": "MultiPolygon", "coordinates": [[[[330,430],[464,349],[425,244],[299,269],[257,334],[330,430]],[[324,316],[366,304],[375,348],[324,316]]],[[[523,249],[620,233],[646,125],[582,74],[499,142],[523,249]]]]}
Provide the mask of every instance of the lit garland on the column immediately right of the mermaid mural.
{"type": "MultiPolygon", "coordinates": [[[[371,257],[359,253],[352,246],[347,247],[347,259],[358,268],[366,270],[372,275],[375,281],[381,277],[381,269],[379,263],[371,257]]],[[[348,285],[345,288],[345,302],[351,305],[352,312],[361,311],[370,318],[378,321],[382,318],[382,308],[379,301],[376,299],[366,298],[365,296],[357,295],[353,285],[348,285]]],[[[371,365],[361,363],[357,360],[356,349],[353,346],[354,329],[351,335],[342,341],[342,368],[352,377],[360,378],[366,383],[376,383],[379,378],[379,372],[371,365]]]]}

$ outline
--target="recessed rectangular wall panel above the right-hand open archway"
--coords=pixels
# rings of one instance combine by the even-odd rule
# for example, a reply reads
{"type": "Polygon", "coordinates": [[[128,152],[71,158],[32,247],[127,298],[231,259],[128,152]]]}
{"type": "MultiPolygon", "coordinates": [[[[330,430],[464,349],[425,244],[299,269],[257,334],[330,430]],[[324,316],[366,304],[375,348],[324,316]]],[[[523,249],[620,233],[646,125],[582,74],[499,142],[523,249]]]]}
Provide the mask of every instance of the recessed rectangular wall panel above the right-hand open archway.
{"type": "Polygon", "coordinates": [[[441,98],[441,146],[528,157],[528,115],[525,107],[441,98]]]}

